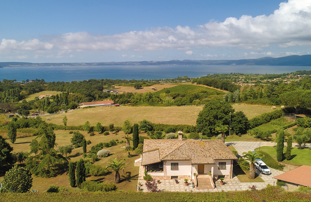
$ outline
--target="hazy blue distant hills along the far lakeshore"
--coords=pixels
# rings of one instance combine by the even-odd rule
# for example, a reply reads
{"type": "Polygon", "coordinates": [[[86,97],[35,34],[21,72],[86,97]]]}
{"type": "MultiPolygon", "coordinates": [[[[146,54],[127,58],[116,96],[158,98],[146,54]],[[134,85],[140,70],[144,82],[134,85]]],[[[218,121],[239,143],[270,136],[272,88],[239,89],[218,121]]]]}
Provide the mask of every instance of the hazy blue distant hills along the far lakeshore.
{"type": "Polygon", "coordinates": [[[30,63],[0,62],[0,67],[31,66],[104,66],[104,65],[269,65],[269,66],[311,66],[311,55],[286,57],[261,57],[243,60],[170,60],[141,62],[89,62],[89,63],[30,63]]]}

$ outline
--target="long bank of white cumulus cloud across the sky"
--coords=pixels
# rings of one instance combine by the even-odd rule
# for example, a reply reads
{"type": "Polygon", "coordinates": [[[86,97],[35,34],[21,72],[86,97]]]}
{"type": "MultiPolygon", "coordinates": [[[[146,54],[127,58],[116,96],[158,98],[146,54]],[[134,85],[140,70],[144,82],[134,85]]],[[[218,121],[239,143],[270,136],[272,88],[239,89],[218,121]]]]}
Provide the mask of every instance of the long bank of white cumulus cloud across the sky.
{"type": "MultiPolygon", "coordinates": [[[[228,17],[223,22],[209,21],[205,25],[195,28],[188,26],[157,27],[151,30],[114,35],[76,32],[50,36],[48,41],[31,39],[18,42],[14,39],[2,39],[0,51],[57,50],[61,55],[68,54],[70,56],[72,52],[85,51],[130,50],[145,52],[176,49],[192,55],[192,51],[187,51],[190,48],[199,50],[226,47],[262,54],[265,48],[272,48],[275,45],[278,48],[311,45],[310,0],[282,2],[279,9],[269,16],[243,15],[239,19],[228,17]]],[[[273,55],[269,51],[266,51],[265,54],[273,55]]],[[[217,57],[216,54],[198,54],[198,56],[217,57]]],[[[124,54],[122,57],[140,56],[124,54]]]]}

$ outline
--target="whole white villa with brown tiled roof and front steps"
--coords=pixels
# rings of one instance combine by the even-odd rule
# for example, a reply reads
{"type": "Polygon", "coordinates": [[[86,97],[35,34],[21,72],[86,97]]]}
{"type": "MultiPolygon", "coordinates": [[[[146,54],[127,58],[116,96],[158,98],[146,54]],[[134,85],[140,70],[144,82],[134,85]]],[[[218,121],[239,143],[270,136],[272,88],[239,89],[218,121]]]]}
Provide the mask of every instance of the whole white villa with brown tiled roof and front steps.
{"type": "Polygon", "coordinates": [[[180,133],[179,139],[144,140],[142,166],[154,179],[189,179],[197,189],[213,189],[213,179],[232,178],[234,159],[221,140],[182,139],[180,133]]]}

